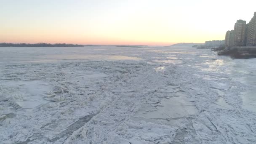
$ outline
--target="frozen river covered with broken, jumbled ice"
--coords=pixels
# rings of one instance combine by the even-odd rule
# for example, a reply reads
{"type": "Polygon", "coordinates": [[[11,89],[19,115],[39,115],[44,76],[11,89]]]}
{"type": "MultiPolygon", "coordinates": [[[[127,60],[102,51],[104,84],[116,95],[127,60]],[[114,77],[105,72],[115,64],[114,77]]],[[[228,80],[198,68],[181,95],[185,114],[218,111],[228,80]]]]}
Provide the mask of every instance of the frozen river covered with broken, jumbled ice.
{"type": "Polygon", "coordinates": [[[0,48],[0,141],[252,144],[255,81],[209,49],[0,48]]]}

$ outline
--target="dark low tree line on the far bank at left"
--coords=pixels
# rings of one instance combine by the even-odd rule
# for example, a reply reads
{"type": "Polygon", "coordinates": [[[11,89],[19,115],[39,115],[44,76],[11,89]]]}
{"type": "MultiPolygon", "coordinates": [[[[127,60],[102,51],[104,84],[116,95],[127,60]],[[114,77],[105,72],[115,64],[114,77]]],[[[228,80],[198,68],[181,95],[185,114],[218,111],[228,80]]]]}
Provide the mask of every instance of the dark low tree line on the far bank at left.
{"type": "Polygon", "coordinates": [[[81,47],[84,45],[66,44],[66,43],[0,43],[0,47],[81,47]]]}

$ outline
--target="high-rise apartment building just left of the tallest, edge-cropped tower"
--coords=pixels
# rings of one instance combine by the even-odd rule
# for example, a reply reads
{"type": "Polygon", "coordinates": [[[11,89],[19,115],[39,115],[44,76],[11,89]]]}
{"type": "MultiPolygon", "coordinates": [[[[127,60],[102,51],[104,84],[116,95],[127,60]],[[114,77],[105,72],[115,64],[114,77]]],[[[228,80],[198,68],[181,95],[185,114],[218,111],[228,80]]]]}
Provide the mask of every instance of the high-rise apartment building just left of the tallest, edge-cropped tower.
{"type": "Polygon", "coordinates": [[[234,27],[235,46],[246,45],[246,21],[237,20],[234,27]]]}

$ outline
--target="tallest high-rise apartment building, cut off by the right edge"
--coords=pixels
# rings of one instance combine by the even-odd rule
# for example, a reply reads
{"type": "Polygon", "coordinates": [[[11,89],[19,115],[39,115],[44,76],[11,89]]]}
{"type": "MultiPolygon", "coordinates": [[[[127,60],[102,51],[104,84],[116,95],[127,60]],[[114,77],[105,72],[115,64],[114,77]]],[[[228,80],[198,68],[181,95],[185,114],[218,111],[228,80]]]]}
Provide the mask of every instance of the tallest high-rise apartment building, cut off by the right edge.
{"type": "Polygon", "coordinates": [[[256,46],[256,12],[251,21],[247,24],[247,46],[256,46]]]}

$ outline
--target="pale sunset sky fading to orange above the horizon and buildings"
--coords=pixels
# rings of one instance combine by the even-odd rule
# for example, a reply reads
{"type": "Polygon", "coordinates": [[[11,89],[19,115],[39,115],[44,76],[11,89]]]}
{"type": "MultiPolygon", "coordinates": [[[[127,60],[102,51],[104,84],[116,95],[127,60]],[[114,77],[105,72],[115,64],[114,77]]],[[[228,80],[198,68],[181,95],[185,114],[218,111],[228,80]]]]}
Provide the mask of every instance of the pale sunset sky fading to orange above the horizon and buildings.
{"type": "Polygon", "coordinates": [[[255,11],[256,0],[0,0],[0,43],[204,43],[255,11]]]}

